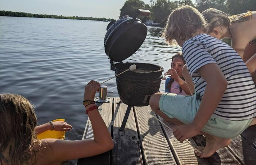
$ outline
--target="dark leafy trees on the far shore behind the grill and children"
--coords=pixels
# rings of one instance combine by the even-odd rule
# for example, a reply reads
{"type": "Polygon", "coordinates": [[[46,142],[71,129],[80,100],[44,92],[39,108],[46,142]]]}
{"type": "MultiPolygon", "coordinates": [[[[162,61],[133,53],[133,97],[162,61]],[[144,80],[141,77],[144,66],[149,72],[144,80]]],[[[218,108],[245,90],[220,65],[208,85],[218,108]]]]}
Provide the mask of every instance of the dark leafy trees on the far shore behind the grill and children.
{"type": "Polygon", "coordinates": [[[142,0],[127,0],[120,9],[120,17],[125,15],[133,17],[138,8],[146,9],[151,11],[149,20],[155,20],[164,26],[171,11],[184,4],[191,5],[200,12],[208,8],[216,8],[228,15],[256,10],[256,0],[195,0],[195,3],[191,0],[150,0],[149,4],[145,4],[142,0]]]}

